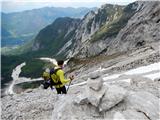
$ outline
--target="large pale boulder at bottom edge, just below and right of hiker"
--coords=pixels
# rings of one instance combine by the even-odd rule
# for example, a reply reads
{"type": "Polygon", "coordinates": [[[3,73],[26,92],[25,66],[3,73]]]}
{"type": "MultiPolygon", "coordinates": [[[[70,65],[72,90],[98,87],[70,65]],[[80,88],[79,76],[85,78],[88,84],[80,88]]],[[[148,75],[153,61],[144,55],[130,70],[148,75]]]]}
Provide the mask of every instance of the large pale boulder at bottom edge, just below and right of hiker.
{"type": "Polygon", "coordinates": [[[77,104],[76,99],[75,95],[60,96],[54,105],[52,120],[92,120],[93,116],[99,116],[94,106],[77,104]]]}

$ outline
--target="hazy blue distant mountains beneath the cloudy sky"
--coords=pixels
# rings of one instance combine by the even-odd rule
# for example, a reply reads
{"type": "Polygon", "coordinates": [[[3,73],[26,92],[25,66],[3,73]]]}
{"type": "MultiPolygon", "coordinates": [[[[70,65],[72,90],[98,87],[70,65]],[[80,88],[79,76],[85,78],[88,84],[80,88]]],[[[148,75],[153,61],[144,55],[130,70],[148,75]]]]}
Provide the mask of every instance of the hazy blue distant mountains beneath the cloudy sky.
{"type": "Polygon", "coordinates": [[[95,9],[45,7],[7,14],[2,12],[2,28],[10,33],[10,36],[2,34],[2,45],[6,46],[7,43],[12,45],[13,43],[10,43],[11,38],[14,38],[13,42],[20,41],[19,43],[21,44],[23,39],[24,42],[33,39],[39,30],[51,24],[58,17],[81,18],[88,11],[95,9]]]}

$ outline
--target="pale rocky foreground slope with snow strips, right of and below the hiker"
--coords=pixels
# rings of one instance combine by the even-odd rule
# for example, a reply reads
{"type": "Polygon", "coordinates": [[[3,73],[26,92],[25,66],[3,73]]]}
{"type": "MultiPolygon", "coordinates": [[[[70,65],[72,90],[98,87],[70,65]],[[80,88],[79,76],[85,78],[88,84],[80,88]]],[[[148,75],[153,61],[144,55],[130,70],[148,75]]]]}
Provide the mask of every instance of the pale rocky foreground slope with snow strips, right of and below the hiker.
{"type": "Polygon", "coordinates": [[[92,67],[73,72],[76,78],[67,95],[39,87],[5,96],[2,119],[158,120],[159,53],[143,48],[99,64],[90,61],[92,67]]]}

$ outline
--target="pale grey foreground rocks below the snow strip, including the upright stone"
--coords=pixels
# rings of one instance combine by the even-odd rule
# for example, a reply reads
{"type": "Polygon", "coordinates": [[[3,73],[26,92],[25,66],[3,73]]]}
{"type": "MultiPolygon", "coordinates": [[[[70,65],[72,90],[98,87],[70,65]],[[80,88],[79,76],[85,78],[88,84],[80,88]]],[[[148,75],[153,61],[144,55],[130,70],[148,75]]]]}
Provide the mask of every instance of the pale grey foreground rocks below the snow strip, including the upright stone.
{"type": "Polygon", "coordinates": [[[86,84],[74,85],[67,95],[38,88],[3,97],[2,120],[159,119],[160,81],[136,76],[136,83],[124,86],[118,79],[104,82],[101,74],[88,74],[86,84]]]}

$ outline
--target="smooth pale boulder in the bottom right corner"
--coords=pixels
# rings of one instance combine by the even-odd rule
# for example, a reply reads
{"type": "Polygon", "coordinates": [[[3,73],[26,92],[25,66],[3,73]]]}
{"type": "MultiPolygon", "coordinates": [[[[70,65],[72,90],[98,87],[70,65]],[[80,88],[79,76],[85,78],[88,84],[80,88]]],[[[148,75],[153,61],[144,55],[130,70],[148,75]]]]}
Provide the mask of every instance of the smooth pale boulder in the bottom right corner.
{"type": "Polygon", "coordinates": [[[159,99],[149,92],[130,93],[125,99],[125,103],[128,109],[135,109],[150,120],[159,119],[159,99]]]}

